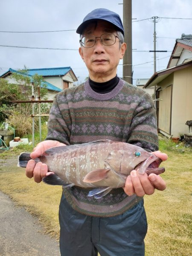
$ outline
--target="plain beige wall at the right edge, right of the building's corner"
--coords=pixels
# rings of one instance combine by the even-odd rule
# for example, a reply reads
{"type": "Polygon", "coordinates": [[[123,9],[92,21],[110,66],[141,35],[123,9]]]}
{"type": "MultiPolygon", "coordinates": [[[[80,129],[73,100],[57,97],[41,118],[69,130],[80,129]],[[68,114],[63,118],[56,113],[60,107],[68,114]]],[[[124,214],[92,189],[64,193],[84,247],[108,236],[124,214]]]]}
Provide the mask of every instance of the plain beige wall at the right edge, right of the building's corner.
{"type": "Polygon", "coordinates": [[[192,120],[192,67],[174,73],[172,106],[172,134],[179,137],[189,132],[185,123],[192,120]]]}

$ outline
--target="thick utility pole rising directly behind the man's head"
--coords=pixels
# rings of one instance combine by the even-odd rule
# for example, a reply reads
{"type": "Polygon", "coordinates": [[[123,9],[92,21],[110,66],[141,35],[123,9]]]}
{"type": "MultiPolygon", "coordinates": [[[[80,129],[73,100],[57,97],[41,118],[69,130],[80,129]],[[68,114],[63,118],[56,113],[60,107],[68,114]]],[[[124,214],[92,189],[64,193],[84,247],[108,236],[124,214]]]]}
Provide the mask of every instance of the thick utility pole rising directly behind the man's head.
{"type": "Polygon", "coordinates": [[[132,84],[132,0],[123,0],[124,40],[127,49],[123,57],[123,80],[132,84]]]}

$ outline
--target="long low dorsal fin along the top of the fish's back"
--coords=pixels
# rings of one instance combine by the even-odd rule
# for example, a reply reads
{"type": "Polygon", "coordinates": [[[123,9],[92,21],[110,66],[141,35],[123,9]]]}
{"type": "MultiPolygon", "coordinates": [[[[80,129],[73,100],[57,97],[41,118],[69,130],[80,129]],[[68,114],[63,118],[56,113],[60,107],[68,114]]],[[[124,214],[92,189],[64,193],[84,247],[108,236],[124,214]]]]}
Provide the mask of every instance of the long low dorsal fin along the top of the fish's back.
{"type": "Polygon", "coordinates": [[[54,147],[54,148],[49,148],[45,151],[46,155],[53,155],[53,154],[58,154],[70,149],[75,149],[75,148],[81,148],[85,147],[88,145],[95,145],[95,144],[100,144],[100,143],[109,143],[111,140],[95,140],[87,143],[82,143],[82,144],[74,144],[74,145],[66,145],[66,146],[60,146],[60,147],[54,147]]]}

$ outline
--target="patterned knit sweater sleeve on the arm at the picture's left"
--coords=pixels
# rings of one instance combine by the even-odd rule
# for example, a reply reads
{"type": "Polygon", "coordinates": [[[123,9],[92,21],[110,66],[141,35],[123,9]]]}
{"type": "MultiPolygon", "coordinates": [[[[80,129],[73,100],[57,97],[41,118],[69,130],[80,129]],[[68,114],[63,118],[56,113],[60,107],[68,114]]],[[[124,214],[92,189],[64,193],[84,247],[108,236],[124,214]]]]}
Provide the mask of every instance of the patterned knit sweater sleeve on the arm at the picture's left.
{"type": "Polygon", "coordinates": [[[64,118],[59,108],[58,97],[56,95],[49,113],[48,133],[45,140],[57,140],[66,145],[70,145],[70,111],[66,111],[68,111],[68,117],[65,115],[64,118]]]}

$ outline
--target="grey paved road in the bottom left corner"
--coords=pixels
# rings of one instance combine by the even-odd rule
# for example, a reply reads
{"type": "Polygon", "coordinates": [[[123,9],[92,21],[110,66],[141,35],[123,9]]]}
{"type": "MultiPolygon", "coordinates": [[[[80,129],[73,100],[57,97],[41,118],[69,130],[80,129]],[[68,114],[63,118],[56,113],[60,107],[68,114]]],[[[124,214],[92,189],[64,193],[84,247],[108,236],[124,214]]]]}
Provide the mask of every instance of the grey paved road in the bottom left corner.
{"type": "Polygon", "coordinates": [[[37,218],[0,192],[0,256],[60,256],[58,242],[42,231],[37,218]]]}

